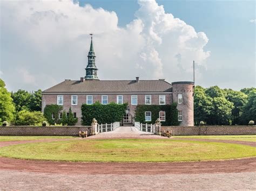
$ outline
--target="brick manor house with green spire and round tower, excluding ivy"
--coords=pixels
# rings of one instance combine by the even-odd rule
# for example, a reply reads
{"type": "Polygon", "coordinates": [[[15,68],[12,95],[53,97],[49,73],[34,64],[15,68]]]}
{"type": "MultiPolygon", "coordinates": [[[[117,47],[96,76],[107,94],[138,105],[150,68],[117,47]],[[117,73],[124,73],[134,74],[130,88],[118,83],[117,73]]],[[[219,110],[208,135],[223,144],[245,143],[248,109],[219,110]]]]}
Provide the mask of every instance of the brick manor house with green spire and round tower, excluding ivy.
{"type": "MultiPolygon", "coordinates": [[[[134,80],[99,80],[92,38],[87,57],[85,77],[80,77],[80,80],[64,80],[42,92],[42,111],[45,105],[49,104],[62,105],[66,111],[71,107],[74,115],[78,117],[77,125],[80,125],[83,103],[93,104],[97,101],[102,104],[128,103],[122,124],[131,125],[134,123],[134,111],[137,105],[165,105],[177,102],[180,125],[193,126],[194,82],[169,83],[164,79],[140,80],[139,77],[134,80]]],[[[61,113],[59,115],[61,116],[61,113]]],[[[165,121],[168,117],[165,111],[159,111],[160,121],[165,121]]],[[[145,122],[153,123],[151,111],[145,111],[145,122]]]]}

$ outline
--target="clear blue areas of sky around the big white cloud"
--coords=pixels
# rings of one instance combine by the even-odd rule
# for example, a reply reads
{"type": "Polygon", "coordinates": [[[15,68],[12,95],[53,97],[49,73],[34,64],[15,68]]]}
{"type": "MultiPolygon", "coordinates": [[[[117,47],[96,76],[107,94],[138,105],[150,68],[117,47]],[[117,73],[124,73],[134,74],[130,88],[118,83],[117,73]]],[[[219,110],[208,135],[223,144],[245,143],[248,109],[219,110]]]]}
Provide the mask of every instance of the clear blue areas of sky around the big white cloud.
{"type": "MultiPolygon", "coordinates": [[[[89,3],[95,8],[116,12],[119,18],[118,25],[121,27],[135,19],[134,12],[139,9],[136,0],[79,1],[81,6],[85,3],[89,3]]],[[[218,80],[215,84],[222,88],[238,90],[242,87],[255,87],[256,25],[255,22],[249,22],[256,17],[255,1],[158,0],[157,3],[164,5],[165,12],[172,13],[174,17],[184,20],[196,31],[206,33],[209,41],[204,49],[211,51],[207,63],[210,66],[220,65],[220,67],[208,76],[207,83],[199,83],[199,85],[213,86],[212,80],[214,81],[215,77],[220,77],[221,81],[218,80]],[[219,70],[225,70],[225,72],[219,70]],[[237,85],[228,82],[228,80],[234,81],[235,79],[237,79],[237,85]]]]}

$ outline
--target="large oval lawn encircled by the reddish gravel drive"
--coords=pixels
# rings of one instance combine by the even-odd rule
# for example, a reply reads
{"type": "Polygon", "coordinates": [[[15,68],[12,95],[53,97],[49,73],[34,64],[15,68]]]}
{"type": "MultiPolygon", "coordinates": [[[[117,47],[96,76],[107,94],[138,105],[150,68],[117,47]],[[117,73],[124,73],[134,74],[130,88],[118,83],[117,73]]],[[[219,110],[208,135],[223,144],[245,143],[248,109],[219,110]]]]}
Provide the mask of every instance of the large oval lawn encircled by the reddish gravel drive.
{"type": "Polygon", "coordinates": [[[0,148],[0,155],[38,160],[174,162],[255,157],[256,148],[173,139],[80,139],[6,146],[0,148]]]}

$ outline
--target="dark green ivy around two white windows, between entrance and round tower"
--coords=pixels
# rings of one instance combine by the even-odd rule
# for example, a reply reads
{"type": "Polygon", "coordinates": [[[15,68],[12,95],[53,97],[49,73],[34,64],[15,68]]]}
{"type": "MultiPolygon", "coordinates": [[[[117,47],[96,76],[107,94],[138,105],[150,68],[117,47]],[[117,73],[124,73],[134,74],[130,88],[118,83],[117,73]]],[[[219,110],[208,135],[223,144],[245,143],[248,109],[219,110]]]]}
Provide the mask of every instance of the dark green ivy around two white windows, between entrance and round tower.
{"type": "Polygon", "coordinates": [[[137,105],[135,121],[143,124],[154,124],[159,118],[159,111],[165,111],[165,122],[161,122],[162,125],[179,125],[177,103],[171,105],[137,105]],[[150,122],[145,122],[146,111],[151,111],[150,122]]]}

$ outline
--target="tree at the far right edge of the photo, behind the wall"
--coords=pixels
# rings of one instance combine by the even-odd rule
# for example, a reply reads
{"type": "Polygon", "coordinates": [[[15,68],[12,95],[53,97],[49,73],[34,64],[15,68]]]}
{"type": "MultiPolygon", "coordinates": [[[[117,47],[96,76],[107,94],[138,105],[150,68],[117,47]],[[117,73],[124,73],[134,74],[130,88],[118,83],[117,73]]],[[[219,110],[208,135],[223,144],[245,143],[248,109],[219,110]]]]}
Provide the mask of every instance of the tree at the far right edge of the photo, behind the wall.
{"type": "Polygon", "coordinates": [[[247,125],[249,121],[256,121],[256,89],[248,93],[248,101],[242,107],[241,122],[247,125]]]}

